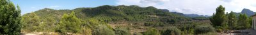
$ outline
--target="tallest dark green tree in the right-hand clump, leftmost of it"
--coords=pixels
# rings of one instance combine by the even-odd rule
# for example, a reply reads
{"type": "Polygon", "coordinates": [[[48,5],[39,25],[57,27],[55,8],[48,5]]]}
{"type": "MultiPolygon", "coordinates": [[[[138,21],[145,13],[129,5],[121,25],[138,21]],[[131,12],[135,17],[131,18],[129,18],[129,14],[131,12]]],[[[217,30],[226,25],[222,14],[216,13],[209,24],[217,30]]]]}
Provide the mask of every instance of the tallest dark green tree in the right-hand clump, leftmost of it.
{"type": "Polygon", "coordinates": [[[226,21],[225,8],[220,5],[216,9],[216,14],[212,15],[210,21],[212,22],[214,27],[221,26],[221,24],[224,24],[226,21]]]}

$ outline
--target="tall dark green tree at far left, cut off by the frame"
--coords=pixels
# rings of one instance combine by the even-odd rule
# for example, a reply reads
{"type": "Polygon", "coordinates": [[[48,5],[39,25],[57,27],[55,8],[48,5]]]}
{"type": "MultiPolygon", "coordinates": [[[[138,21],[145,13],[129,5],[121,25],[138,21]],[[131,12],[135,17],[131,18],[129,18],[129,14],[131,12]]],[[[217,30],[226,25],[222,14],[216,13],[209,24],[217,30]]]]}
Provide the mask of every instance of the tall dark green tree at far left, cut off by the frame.
{"type": "Polygon", "coordinates": [[[20,8],[10,0],[0,0],[0,34],[20,34],[20,8]]]}

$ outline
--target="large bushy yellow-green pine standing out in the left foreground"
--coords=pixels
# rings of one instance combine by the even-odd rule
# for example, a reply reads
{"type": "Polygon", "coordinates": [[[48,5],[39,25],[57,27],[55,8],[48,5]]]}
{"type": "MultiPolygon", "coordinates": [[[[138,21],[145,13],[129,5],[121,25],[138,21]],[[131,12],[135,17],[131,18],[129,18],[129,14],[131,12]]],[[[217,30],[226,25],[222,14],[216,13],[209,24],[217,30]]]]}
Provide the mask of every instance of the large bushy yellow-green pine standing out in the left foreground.
{"type": "Polygon", "coordinates": [[[74,32],[77,33],[81,29],[81,20],[75,16],[75,12],[71,14],[63,14],[60,23],[58,24],[58,32],[66,33],[74,32]]]}

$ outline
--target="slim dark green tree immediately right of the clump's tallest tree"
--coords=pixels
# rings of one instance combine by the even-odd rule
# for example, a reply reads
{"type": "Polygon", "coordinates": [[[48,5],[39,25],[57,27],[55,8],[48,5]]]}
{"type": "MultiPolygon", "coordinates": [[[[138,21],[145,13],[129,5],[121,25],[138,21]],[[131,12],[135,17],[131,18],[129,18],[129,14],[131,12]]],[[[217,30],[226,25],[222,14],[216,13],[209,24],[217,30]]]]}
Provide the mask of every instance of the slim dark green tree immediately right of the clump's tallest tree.
{"type": "Polygon", "coordinates": [[[237,26],[237,17],[236,17],[236,13],[231,11],[228,14],[228,26],[230,27],[230,29],[234,29],[234,27],[237,26]]]}

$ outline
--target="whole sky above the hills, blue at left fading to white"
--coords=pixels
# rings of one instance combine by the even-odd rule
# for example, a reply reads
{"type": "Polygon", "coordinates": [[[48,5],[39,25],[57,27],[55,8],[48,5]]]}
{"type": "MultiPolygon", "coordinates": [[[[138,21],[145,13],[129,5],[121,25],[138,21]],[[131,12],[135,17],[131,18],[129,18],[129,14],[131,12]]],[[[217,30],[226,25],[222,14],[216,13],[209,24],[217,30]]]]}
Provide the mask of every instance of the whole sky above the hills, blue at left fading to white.
{"type": "Polygon", "coordinates": [[[168,9],[184,14],[209,15],[216,12],[220,5],[225,12],[241,12],[244,8],[256,11],[256,0],[11,0],[21,8],[21,14],[39,9],[75,9],[94,8],[102,5],[137,5],[141,7],[154,6],[158,9],[168,9]]]}

